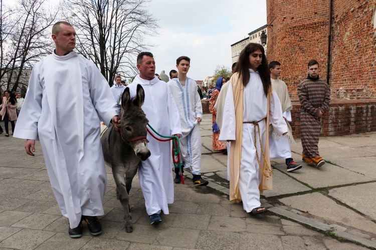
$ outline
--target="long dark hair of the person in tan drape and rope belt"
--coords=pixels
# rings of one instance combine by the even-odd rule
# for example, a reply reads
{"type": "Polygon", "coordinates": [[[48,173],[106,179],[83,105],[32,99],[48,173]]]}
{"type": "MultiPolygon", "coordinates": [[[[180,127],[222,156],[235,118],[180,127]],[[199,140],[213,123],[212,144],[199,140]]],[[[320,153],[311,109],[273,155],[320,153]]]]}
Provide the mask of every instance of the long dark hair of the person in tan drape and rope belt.
{"type": "Polygon", "coordinates": [[[257,50],[262,52],[262,61],[261,64],[257,67],[259,71],[262,84],[264,86],[265,95],[268,96],[268,90],[271,87],[272,83],[270,81],[270,70],[268,65],[268,59],[265,55],[264,47],[259,43],[249,43],[243,50],[240,52],[239,60],[236,63],[234,72],[239,72],[239,77],[243,81],[243,85],[246,86],[249,81],[249,69],[251,68],[251,63],[249,62],[249,55],[257,50]]]}

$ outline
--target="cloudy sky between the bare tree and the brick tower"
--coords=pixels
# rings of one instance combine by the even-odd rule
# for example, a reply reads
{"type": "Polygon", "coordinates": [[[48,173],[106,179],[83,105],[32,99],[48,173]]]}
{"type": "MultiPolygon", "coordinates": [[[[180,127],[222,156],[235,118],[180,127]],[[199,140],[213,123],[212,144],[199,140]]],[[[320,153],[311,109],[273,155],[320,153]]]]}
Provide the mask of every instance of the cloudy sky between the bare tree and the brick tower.
{"type": "Polygon", "coordinates": [[[176,69],[176,58],[191,58],[187,76],[203,80],[217,65],[231,67],[231,44],[266,24],[265,0],[152,0],[158,34],[147,40],[156,72],[176,69]]]}

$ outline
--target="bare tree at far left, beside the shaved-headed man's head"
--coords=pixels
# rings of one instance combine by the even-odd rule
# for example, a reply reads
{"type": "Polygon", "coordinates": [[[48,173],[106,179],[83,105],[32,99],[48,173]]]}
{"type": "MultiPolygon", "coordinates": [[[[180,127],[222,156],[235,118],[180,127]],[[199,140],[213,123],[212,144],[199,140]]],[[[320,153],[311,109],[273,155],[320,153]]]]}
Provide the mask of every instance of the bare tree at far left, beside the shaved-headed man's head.
{"type": "MultiPolygon", "coordinates": [[[[16,91],[22,79],[25,67],[31,68],[42,56],[51,53],[52,40],[50,27],[55,22],[58,8],[51,8],[46,0],[18,0],[7,13],[7,37],[2,41],[2,53],[6,47],[2,61],[1,77],[6,76],[6,89],[16,91]],[[8,38],[8,39],[6,39],[8,38]]],[[[28,78],[28,77],[26,77],[28,78]]],[[[4,83],[4,81],[3,81],[4,83]]]]}

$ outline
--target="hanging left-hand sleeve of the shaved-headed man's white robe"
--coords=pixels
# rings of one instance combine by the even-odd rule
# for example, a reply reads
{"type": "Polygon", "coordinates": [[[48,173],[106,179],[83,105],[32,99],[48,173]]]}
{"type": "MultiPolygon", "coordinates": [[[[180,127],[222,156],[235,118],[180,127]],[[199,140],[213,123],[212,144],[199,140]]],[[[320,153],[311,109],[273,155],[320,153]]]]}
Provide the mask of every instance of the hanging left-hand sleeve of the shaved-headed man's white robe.
{"type": "MultiPolygon", "coordinates": [[[[39,64],[37,64],[39,65],[39,64]]],[[[18,117],[14,137],[39,140],[38,121],[42,113],[42,82],[37,65],[30,75],[23,108],[18,117]]]]}

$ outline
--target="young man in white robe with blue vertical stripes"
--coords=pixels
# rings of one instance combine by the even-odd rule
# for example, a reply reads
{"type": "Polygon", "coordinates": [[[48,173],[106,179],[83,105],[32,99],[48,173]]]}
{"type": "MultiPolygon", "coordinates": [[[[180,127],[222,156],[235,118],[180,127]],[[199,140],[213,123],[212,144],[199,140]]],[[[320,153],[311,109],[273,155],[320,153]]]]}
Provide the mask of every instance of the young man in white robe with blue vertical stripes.
{"type": "MultiPolygon", "coordinates": [[[[203,117],[203,107],[198,86],[195,80],[186,76],[190,69],[191,59],[180,56],[176,59],[177,78],[167,82],[167,85],[179,110],[181,132],[180,158],[184,167],[190,167],[195,186],[209,183],[201,177],[201,134],[200,122],[203,117]]],[[[175,170],[175,183],[181,182],[178,168],[175,170]]]]}

